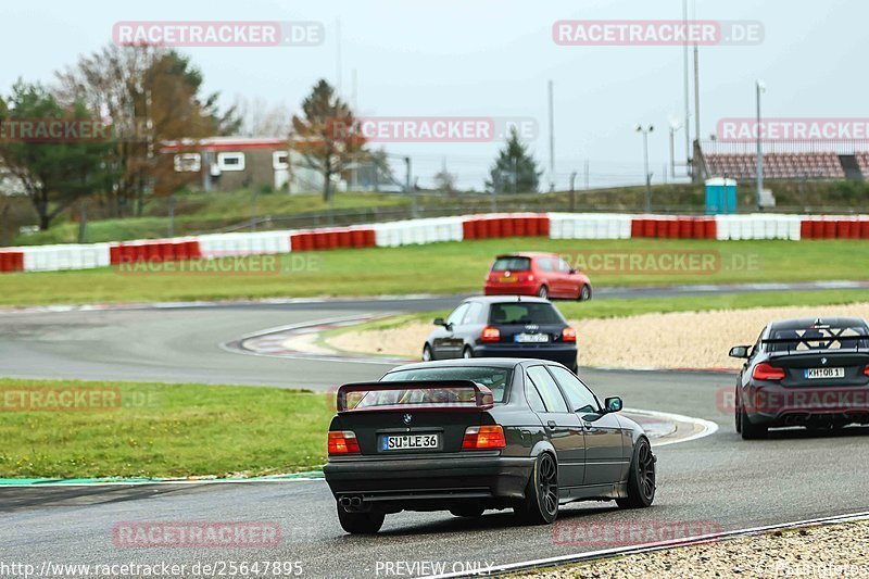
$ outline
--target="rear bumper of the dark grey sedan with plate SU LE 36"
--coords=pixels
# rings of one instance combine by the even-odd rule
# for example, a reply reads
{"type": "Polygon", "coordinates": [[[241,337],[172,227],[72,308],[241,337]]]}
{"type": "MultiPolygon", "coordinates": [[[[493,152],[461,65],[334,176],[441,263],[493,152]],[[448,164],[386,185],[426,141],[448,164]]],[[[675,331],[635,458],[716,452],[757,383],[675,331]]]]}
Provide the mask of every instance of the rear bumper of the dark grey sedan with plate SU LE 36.
{"type": "Polygon", "coordinates": [[[356,456],[332,458],[323,473],[338,500],[361,498],[363,505],[388,504],[399,509],[433,502],[449,508],[451,502],[521,499],[533,466],[533,457],[475,453],[391,460],[356,456]]]}

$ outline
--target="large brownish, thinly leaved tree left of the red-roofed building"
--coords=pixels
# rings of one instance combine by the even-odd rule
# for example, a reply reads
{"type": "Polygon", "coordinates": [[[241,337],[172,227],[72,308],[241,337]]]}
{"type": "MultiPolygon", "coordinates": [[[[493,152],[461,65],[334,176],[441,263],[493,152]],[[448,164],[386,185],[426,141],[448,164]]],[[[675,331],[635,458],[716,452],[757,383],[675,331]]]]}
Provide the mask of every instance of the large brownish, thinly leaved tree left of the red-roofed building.
{"type": "Polygon", "coordinates": [[[219,111],[218,93],[202,95],[202,73],[190,60],[161,47],[109,45],[56,74],[62,103],[84,102],[91,114],[111,119],[118,168],[105,205],[123,217],[154,187],[160,143],[238,130],[235,109],[219,111]]]}

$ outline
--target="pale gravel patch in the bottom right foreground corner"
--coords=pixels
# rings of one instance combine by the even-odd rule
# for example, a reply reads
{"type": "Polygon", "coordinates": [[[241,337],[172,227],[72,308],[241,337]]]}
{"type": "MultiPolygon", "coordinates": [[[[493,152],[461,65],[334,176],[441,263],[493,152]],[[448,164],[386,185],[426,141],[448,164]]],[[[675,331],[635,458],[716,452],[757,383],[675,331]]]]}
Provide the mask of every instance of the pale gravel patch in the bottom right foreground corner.
{"type": "Polygon", "coordinates": [[[776,531],[559,567],[522,577],[869,577],[869,521],[776,531]]]}

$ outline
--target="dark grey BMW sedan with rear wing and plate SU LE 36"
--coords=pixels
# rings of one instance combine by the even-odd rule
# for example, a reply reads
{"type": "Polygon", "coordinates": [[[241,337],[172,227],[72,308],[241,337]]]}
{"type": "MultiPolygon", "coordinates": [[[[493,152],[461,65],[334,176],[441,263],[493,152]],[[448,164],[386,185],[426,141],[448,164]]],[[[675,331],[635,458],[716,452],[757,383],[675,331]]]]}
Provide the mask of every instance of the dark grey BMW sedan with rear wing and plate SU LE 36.
{"type": "Polygon", "coordinates": [[[482,358],[411,364],[344,385],[328,435],[326,481],[351,533],[386,515],[513,508],[549,524],[574,501],[650,506],[648,438],[561,364],[482,358]]]}

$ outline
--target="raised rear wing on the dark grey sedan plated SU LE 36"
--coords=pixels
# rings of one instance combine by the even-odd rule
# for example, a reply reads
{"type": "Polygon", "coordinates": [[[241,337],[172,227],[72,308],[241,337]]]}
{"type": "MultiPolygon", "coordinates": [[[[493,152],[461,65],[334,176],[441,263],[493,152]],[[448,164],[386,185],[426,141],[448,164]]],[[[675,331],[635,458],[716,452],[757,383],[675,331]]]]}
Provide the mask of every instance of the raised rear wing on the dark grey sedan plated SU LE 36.
{"type": "Polygon", "coordinates": [[[479,412],[494,406],[494,394],[470,380],[426,380],[395,382],[354,382],[338,389],[337,408],[347,412],[457,411],[479,412]],[[370,400],[382,392],[394,392],[394,400],[370,400]],[[415,393],[415,395],[414,395],[415,393]],[[462,395],[464,393],[464,395],[462,395]],[[354,397],[355,394],[355,397],[354,397]],[[351,400],[355,398],[354,404],[351,400]],[[454,400],[445,400],[445,399],[454,400]],[[366,403],[366,399],[368,403],[366,403]]]}

